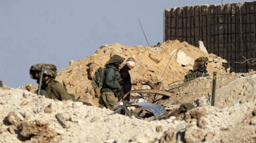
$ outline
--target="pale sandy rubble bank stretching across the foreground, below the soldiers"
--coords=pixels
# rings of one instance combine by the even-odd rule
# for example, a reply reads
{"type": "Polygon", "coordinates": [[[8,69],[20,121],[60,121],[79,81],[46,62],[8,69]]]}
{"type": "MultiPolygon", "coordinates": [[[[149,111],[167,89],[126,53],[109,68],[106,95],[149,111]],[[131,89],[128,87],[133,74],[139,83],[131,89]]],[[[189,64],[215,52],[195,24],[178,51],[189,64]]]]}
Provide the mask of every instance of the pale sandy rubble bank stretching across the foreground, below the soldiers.
{"type": "MultiPolygon", "coordinates": [[[[246,83],[254,82],[251,85],[255,90],[256,76],[245,78],[246,83]]],[[[220,88],[225,92],[219,90],[218,94],[227,96],[230,95],[228,91],[240,92],[239,86],[233,87],[234,90],[229,88],[220,88]]],[[[255,97],[252,92],[247,96],[255,97]]],[[[108,109],[86,106],[82,102],[54,101],[20,89],[0,88],[0,98],[0,141],[4,143],[256,141],[256,100],[230,108],[205,105],[177,118],[171,116],[149,122],[119,114],[110,115],[112,111],[108,109]]]]}

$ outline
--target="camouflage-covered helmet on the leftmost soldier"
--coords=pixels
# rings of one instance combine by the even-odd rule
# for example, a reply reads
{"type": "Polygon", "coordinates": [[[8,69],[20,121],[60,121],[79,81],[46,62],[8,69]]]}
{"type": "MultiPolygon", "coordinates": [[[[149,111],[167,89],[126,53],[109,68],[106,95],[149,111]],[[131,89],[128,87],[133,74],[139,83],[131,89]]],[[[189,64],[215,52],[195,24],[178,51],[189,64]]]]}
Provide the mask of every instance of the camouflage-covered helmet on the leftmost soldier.
{"type": "Polygon", "coordinates": [[[30,78],[37,79],[37,77],[35,77],[35,73],[41,72],[42,66],[44,66],[44,72],[43,72],[44,74],[51,76],[52,78],[56,78],[57,67],[53,64],[46,64],[46,63],[39,63],[36,65],[32,65],[29,70],[30,78]]]}

